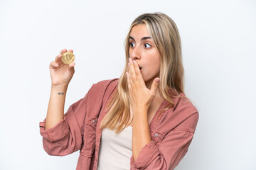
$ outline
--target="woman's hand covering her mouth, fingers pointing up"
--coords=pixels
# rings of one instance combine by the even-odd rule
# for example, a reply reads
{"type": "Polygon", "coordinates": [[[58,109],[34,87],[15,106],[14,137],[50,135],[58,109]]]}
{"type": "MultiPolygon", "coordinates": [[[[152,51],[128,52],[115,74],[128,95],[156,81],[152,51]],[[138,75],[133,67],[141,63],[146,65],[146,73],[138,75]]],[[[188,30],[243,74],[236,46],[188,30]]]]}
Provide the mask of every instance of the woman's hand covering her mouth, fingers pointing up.
{"type": "Polygon", "coordinates": [[[146,111],[148,111],[149,106],[156,96],[156,89],[159,85],[159,81],[157,82],[157,80],[160,79],[158,77],[155,78],[149,90],[146,87],[137,62],[129,58],[128,65],[129,70],[126,74],[132,110],[138,111],[139,109],[146,109],[146,111]]]}

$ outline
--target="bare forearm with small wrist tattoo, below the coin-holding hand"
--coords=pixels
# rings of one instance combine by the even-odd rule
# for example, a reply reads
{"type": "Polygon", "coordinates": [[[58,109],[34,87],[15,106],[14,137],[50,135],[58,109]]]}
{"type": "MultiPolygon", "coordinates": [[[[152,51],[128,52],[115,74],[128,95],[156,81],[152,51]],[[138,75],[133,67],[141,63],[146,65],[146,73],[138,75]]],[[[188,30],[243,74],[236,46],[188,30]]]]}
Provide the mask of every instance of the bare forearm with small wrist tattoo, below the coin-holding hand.
{"type": "Polygon", "coordinates": [[[57,125],[64,118],[65,96],[68,86],[52,86],[46,115],[46,129],[57,125]]]}

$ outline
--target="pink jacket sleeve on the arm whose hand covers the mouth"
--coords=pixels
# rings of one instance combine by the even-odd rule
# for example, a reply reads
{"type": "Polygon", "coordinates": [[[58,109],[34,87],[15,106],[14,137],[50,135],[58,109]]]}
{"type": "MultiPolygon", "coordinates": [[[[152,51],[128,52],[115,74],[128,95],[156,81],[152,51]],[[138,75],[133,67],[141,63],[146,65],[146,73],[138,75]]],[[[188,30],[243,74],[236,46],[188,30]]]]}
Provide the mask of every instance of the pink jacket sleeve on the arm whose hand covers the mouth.
{"type": "Polygon", "coordinates": [[[159,134],[161,142],[151,140],[145,145],[131,169],[174,169],[188,151],[198,122],[198,112],[193,113],[168,134],[159,134]]]}

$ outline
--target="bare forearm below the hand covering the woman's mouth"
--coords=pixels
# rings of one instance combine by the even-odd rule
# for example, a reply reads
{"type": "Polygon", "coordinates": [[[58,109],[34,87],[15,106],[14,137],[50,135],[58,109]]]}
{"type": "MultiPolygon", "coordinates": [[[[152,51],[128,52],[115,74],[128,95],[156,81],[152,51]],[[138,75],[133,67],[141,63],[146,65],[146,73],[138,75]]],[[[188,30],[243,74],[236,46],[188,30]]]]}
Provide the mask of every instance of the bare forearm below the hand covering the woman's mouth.
{"type": "Polygon", "coordinates": [[[135,111],[132,123],[132,154],[134,161],[142,148],[151,142],[147,109],[135,111]]]}

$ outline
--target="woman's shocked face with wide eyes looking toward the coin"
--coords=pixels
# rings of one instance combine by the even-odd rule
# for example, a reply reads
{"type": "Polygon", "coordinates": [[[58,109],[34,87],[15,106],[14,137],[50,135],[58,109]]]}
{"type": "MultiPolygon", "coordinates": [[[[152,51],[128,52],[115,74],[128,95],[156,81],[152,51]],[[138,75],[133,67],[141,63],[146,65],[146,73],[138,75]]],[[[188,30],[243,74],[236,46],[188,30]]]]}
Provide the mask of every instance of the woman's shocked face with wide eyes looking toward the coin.
{"type": "Polygon", "coordinates": [[[129,57],[139,64],[145,84],[151,84],[160,72],[160,54],[145,24],[134,26],[129,35],[129,57]]]}

